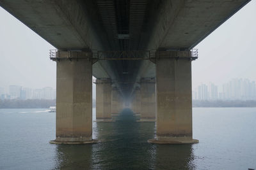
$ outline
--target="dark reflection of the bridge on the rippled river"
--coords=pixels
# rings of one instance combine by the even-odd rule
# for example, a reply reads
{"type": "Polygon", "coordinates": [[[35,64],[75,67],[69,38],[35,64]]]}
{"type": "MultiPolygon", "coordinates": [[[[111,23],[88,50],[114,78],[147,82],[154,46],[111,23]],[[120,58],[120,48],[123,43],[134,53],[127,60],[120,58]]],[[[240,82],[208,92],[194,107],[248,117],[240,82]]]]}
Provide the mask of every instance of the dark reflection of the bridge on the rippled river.
{"type": "Polygon", "coordinates": [[[136,122],[131,110],[116,122],[93,123],[94,145],[57,145],[56,169],[194,169],[191,145],[152,145],[154,122],[136,122]]]}

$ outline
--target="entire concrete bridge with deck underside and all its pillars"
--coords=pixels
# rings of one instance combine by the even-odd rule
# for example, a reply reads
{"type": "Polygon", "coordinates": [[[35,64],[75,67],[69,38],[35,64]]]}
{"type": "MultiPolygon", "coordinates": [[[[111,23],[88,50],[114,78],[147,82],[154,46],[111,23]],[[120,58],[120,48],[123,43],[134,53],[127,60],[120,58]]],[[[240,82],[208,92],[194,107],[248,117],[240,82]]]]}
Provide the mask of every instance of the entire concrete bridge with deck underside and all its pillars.
{"type": "MultiPolygon", "coordinates": [[[[0,0],[0,6],[55,46],[56,139],[94,143],[97,122],[123,108],[156,121],[150,143],[198,143],[192,132],[193,49],[249,0],[0,0]]],[[[4,25],[4,23],[2,23],[4,25]]]]}

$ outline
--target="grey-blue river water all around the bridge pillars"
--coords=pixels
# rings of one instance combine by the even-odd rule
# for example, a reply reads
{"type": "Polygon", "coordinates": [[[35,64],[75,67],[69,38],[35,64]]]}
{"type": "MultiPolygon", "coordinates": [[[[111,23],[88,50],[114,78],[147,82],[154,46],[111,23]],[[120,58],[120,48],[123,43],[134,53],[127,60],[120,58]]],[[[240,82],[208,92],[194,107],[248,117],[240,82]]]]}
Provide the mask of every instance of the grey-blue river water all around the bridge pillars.
{"type": "MultiPolygon", "coordinates": [[[[93,110],[95,119],[95,110],[93,110]]],[[[256,108],[194,108],[194,145],[151,145],[154,122],[93,122],[94,145],[51,145],[55,113],[0,110],[0,169],[256,168],[256,108]]]]}

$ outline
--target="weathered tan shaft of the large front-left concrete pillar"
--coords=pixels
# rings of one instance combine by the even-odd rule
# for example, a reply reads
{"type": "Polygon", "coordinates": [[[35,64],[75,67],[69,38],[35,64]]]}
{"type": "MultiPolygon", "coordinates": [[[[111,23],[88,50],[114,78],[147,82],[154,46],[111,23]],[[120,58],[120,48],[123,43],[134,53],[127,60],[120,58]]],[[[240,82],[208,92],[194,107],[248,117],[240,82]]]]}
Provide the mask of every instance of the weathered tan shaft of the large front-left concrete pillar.
{"type": "Polygon", "coordinates": [[[77,60],[57,61],[56,142],[61,143],[92,141],[92,60],[88,52],[72,53],[77,60]]]}

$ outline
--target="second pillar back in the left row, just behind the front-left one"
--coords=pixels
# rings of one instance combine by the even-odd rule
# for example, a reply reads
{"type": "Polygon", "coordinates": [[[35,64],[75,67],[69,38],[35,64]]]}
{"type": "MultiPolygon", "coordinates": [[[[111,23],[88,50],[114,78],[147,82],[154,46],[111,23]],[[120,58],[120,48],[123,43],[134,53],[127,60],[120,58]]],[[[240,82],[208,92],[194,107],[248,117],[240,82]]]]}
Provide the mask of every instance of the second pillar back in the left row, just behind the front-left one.
{"type": "Polygon", "coordinates": [[[97,122],[111,122],[111,80],[96,80],[96,119],[97,122]]]}

